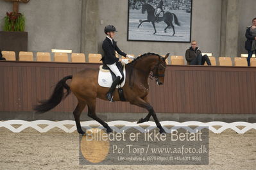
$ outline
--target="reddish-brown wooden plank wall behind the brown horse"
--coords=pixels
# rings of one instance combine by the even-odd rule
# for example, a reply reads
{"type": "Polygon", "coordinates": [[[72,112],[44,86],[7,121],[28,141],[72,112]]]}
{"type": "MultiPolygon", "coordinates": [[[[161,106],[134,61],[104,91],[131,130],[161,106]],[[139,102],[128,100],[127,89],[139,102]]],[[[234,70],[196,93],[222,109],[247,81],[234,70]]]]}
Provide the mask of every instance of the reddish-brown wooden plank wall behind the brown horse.
{"type": "MultiPolygon", "coordinates": [[[[90,63],[1,61],[0,111],[32,111],[38,100],[49,98],[60,79],[98,66],[90,63]]],[[[157,86],[149,79],[149,102],[156,112],[255,114],[255,85],[255,68],[167,66],[163,86],[157,86]]],[[[73,112],[76,104],[76,97],[69,95],[53,111],[73,112]]],[[[100,99],[96,111],[147,112],[128,102],[113,104],[100,99]]]]}

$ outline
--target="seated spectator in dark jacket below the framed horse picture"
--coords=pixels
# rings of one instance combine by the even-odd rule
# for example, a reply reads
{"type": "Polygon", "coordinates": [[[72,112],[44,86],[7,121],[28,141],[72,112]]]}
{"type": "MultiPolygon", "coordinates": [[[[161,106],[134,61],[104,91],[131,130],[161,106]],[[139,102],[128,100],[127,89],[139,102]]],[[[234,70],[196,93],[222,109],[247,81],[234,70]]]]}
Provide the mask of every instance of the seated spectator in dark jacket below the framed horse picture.
{"type": "Polygon", "coordinates": [[[186,50],[185,58],[189,65],[204,65],[205,61],[207,65],[212,65],[207,55],[201,54],[201,50],[197,47],[196,41],[191,42],[191,47],[186,50]]]}

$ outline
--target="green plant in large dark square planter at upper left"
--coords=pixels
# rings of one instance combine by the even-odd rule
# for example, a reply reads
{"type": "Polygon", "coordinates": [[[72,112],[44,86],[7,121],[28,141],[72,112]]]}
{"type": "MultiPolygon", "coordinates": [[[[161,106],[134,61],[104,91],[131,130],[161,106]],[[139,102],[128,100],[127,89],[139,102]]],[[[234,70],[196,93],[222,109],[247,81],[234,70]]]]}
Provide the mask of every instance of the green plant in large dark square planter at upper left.
{"type": "Polygon", "coordinates": [[[6,12],[3,31],[0,31],[0,49],[15,51],[18,60],[20,51],[28,50],[28,33],[25,29],[25,17],[22,13],[6,12]]]}

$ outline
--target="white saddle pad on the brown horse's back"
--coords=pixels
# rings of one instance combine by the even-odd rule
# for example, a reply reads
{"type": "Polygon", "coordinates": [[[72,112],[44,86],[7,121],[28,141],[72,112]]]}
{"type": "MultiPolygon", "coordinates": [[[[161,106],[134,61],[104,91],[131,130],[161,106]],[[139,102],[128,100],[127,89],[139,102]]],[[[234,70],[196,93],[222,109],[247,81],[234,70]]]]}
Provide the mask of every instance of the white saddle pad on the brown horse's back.
{"type": "MultiPolygon", "coordinates": [[[[109,70],[102,69],[102,66],[103,65],[99,66],[98,84],[101,87],[110,88],[111,85],[112,85],[112,82],[113,82],[112,75],[111,75],[109,70]]],[[[124,86],[124,82],[125,82],[125,78],[126,78],[126,75],[125,75],[125,65],[124,65],[123,72],[124,72],[124,81],[121,83],[121,87],[124,86]]],[[[116,88],[118,88],[118,87],[119,86],[117,86],[116,88]]]]}

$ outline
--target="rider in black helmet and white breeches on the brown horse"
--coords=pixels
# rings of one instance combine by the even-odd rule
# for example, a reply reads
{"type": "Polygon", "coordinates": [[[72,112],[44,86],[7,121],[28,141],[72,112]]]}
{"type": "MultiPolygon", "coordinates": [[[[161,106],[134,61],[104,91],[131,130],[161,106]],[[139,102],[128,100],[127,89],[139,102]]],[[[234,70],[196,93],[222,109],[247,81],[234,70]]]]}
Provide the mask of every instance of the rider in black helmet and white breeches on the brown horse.
{"type": "Polygon", "coordinates": [[[122,74],[119,72],[119,69],[116,66],[116,63],[118,61],[121,61],[124,64],[128,64],[129,60],[128,59],[119,59],[115,57],[115,50],[117,51],[118,54],[120,54],[121,56],[124,56],[126,58],[130,58],[130,59],[134,59],[133,56],[130,56],[128,54],[125,54],[124,52],[122,52],[118,47],[117,47],[117,42],[114,41],[114,36],[115,36],[115,32],[116,29],[114,26],[106,26],[104,29],[105,34],[107,35],[107,37],[105,38],[105,40],[102,43],[102,49],[104,50],[104,57],[102,58],[103,64],[107,65],[108,68],[110,68],[110,70],[112,72],[115,73],[116,78],[114,79],[114,81],[112,82],[112,85],[108,91],[108,93],[106,94],[106,98],[110,101],[110,102],[114,102],[113,100],[113,92],[115,90],[115,87],[117,86],[117,84],[119,83],[119,81],[122,79],[122,74]]]}

